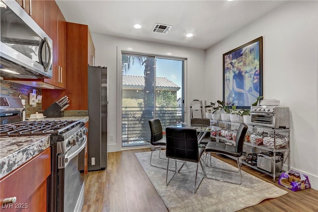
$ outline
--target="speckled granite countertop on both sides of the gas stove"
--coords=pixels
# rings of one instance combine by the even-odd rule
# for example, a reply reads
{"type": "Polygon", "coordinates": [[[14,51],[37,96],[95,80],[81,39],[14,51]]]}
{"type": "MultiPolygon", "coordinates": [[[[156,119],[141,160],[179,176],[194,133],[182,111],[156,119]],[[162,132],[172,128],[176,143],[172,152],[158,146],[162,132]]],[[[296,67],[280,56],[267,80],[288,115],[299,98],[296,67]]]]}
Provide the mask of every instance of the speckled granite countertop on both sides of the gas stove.
{"type": "MultiPolygon", "coordinates": [[[[88,121],[88,116],[45,118],[50,120],[88,121]]],[[[50,146],[50,136],[0,138],[0,178],[15,170],[50,146]]]]}

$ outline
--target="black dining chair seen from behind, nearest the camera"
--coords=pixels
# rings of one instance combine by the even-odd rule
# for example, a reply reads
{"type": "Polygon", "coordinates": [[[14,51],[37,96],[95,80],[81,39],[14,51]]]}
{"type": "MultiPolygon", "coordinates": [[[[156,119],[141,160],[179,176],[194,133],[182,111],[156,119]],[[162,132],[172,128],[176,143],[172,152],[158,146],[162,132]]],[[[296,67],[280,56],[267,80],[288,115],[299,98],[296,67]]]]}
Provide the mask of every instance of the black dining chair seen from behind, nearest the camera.
{"type": "Polygon", "coordinates": [[[180,172],[185,162],[194,162],[197,163],[197,169],[195,173],[195,183],[194,183],[194,193],[196,193],[199,188],[203,178],[201,179],[198,187],[196,187],[197,183],[197,175],[198,175],[198,165],[200,163],[201,168],[203,170],[203,174],[205,176],[204,167],[200,160],[202,153],[204,152],[204,148],[199,148],[198,146],[198,137],[197,131],[193,128],[178,128],[178,127],[167,127],[165,129],[166,133],[166,149],[165,156],[168,158],[167,164],[167,174],[165,183],[166,186],[169,185],[173,176],[176,172],[180,172]],[[168,180],[168,171],[169,171],[169,159],[174,159],[174,167],[173,175],[168,180]],[[177,160],[184,161],[180,168],[177,171],[177,160]]]}

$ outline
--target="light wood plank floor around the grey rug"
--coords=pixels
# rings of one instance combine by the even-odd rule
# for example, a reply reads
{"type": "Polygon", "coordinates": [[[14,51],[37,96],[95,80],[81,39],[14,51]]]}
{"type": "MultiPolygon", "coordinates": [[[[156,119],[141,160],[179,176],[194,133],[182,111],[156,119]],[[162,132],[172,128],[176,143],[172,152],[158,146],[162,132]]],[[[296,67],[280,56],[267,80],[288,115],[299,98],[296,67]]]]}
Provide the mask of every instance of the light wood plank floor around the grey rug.
{"type": "MultiPolygon", "coordinates": [[[[150,149],[110,152],[106,170],[88,172],[85,177],[82,212],[167,212],[134,154],[144,151],[150,151],[150,149]]],[[[218,158],[233,165],[236,162],[232,159],[218,158]]],[[[254,169],[243,165],[242,170],[273,183],[270,176],[254,169]]],[[[285,189],[278,185],[277,181],[273,184],[285,189]]],[[[264,200],[241,212],[318,212],[318,191],[314,189],[298,192],[285,190],[289,192],[287,195],[264,200]]]]}

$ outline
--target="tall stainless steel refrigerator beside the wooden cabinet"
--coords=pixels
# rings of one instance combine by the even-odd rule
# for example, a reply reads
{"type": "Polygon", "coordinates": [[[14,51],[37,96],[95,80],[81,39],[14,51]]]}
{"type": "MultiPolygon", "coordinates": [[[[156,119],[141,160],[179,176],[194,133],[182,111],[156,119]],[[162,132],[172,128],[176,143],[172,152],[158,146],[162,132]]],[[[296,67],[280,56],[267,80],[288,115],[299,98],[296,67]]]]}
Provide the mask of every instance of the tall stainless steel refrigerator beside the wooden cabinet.
{"type": "Polygon", "coordinates": [[[88,66],[88,171],[107,167],[107,68],[88,66]]]}

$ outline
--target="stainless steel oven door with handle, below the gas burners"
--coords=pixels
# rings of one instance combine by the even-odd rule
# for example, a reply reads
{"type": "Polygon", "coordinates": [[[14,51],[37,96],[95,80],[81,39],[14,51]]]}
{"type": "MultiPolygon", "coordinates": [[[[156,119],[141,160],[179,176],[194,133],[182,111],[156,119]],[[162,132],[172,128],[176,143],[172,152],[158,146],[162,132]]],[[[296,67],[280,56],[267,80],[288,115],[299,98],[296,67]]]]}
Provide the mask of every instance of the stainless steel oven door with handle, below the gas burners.
{"type": "Polygon", "coordinates": [[[84,200],[84,175],[79,173],[79,152],[85,148],[87,137],[79,145],[58,156],[58,212],[81,211],[84,200]],[[64,160],[64,166],[61,166],[64,160]]]}

